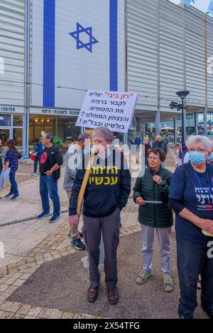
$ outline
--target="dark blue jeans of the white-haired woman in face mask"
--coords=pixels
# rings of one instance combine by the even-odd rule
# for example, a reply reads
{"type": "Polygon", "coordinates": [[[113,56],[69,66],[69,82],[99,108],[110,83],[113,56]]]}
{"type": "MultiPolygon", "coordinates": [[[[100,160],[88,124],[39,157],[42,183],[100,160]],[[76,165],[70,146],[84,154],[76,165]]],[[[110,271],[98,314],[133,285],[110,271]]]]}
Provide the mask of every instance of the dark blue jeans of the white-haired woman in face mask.
{"type": "Polygon", "coordinates": [[[213,258],[207,256],[209,249],[207,244],[188,242],[177,235],[179,310],[184,313],[192,313],[197,307],[197,278],[200,273],[202,305],[213,310],[213,258]]]}

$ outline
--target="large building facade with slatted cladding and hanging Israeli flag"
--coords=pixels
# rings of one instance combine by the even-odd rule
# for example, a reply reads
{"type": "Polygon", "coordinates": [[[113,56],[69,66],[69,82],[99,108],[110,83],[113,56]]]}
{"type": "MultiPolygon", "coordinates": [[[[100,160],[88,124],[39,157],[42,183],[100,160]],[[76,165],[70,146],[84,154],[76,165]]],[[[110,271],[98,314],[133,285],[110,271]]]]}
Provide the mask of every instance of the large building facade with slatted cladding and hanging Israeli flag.
{"type": "MultiPolygon", "coordinates": [[[[189,90],[186,134],[213,127],[213,19],[168,0],[6,0],[0,6],[0,137],[28,149],[63,141],[85,91],[136,91],[129,135],[181,129],[175,92],[189,90]],[[70,3],[72,6],[70,6],[70,3]],[[204,112],[205,111],[205,112],[204,112]],[[207,114],[208,113],[208,114],[207,114]]],[[[180,102],[180,101],[178,101],[180,102]]]]}

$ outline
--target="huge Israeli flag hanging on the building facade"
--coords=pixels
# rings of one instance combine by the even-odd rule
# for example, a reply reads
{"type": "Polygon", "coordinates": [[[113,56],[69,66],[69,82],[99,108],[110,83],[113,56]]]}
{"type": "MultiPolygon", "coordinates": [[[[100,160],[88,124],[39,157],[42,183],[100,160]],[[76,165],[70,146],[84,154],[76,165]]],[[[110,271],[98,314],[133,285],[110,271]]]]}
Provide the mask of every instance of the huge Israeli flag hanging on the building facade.
{"type": "Polygon", "coordinates": [[[32,1],[32,106],[81,108],[85,90],[125,91],[125,1],[32,1]]]}

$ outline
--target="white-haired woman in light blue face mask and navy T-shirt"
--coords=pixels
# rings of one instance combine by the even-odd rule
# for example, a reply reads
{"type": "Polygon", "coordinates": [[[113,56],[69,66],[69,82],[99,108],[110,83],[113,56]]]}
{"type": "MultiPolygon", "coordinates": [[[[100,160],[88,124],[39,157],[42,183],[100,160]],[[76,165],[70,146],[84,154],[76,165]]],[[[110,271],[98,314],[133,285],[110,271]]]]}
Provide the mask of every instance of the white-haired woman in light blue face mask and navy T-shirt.
{"type": "Polygon", "coordinates": [[[209,249],[213,241],[213,168],[207,163],[212,145],[201,135],[192,135],[186,145],[190,162],[175,171],[169,195],[176,214],[178,315],[182,319],[193,318],[197,307],[197,278],[201,272],[202,309],[213,319],[213,258],[209,249]]]}

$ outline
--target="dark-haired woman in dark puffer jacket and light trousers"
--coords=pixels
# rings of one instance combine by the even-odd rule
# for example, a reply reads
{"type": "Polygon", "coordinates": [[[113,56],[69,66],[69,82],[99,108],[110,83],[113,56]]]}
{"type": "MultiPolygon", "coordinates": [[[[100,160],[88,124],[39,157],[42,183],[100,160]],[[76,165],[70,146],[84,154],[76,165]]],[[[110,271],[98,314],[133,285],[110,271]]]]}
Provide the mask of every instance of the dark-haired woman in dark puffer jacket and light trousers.
{"type": "Polygon", "coordinates": [[[170,276],[170,235],[173,226],[173,212],[168,204],[168,193],[172,173],[163,168],[165,152],[153,148],[148,152],[148,168],[143,176],[138,176],[133,188],[133,201],[139,205],[138,220],[142,232],[143,269],[136,282],[143,284],[153,275],[153,241],[158,237],[160,247],[163,288],[166,292],[173,290],[170,276]]]}

